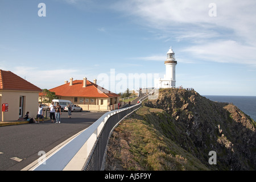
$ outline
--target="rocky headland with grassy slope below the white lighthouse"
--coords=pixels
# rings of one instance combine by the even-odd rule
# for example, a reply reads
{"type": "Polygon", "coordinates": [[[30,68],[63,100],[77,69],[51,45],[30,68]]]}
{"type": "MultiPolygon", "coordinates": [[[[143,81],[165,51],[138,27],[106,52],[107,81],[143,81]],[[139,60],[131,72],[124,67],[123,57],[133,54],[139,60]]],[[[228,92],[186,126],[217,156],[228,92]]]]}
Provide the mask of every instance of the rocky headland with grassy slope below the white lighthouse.
{"type": "Polygon", "coordinates": [[[255,127],[234,105],[193,90],[160,89],[115,129],[106,169],[255,170],[255,127]],[[209,164],[210,151],[217,164],[209,164]]]}

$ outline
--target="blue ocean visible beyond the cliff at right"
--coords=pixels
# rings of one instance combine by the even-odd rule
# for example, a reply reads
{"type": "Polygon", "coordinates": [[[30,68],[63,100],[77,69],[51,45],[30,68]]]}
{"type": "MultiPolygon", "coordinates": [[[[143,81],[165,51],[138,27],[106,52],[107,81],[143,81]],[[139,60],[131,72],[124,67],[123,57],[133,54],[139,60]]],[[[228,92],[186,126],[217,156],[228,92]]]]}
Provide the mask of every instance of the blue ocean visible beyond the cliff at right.
{"type": "Polygon", "coordinates": [[[204,96],[211,101],[233,102],[243,113],[256,121],[256,96],[204,96]]]}

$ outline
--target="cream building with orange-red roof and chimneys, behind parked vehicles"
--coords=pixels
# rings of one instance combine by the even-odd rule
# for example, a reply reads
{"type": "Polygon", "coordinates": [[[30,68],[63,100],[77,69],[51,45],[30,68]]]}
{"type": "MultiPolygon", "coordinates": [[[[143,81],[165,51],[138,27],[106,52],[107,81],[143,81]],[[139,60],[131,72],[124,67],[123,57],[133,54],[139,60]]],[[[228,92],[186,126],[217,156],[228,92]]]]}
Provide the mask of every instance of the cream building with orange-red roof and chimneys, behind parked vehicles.
{"type": "MultiPolygon", "coordinates": [[[[64,85],[49,89],[55,92],[60,100],[69,100],[73,104],[82,107],[82,110],[113,110],[118,108],[120,96],[97,85],[97,80],[93,82],[83,78],[83,80],[65,81],[64,85]]],[[[40,93],[42,94],[42,93],[40,93]]],[[[40,100],[40,98],[39,98],[40,100]]]]}

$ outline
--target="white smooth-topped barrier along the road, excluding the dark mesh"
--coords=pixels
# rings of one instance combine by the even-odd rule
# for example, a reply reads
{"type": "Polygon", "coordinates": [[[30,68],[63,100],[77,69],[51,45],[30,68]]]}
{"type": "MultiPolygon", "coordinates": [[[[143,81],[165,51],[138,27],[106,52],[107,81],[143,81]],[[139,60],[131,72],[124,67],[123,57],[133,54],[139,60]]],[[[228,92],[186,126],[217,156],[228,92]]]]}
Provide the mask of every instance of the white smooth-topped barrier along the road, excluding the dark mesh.
{"type": "MultiPolygon", "coordinates": [[[[149,94],[154,93],[152,90],[149,94]]],[[[148,95],[149,95],[148,94],[148,95]]],[[[147,96],[148,96],[147,95],[147,96]]],[[[147,98],[144,96],[139,100],[139,104],[147,98]]],[[[88,158],[94,143],[100,135],[105,123],[108,119],[119,112],[130,109],[134,106],[126,107],[119,110],[109,111],[102,115],[96,122],[90,125],[87,129],[72,136],[59,146],[49,151],[43,162],[36,160],[22,170],[28,171],[62,171],[62,170],[76,170],[80,171],[84,166],[86,159],[88,158]]],[[[132,113],[132,112],[131,112],[132,113]]],[[[129,115],[129,114],[128,114],[129,115]]],[[[121,118],[123,119],[123,118],[121,118]]]]}

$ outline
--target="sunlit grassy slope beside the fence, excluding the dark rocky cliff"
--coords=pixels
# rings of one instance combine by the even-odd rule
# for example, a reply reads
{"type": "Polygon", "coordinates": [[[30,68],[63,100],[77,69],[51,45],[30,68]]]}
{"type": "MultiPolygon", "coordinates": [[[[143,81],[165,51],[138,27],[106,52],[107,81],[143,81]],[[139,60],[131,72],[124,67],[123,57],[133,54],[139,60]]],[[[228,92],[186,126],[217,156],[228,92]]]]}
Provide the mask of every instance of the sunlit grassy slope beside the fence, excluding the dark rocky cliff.
{"type": "MultiPolygon", "coordinates": [[[[108,156],[115,156],[125,170],[208,170],[200,160],[165,137],[155,125],[144,120],[150,115],[154,117],[155,111],[142,107],[134,117],[122,121],[110,139],[110,143],[118,143],[119,150],[112,150],[115,154],[108,156]],[[119,138],[115,137],[117,132],[119,138]]],[[[116,161],[108,159],[109,163],[110,160],[116,161]]],[[[110,165],[117,166],[117,162],[110,165]]]]}

